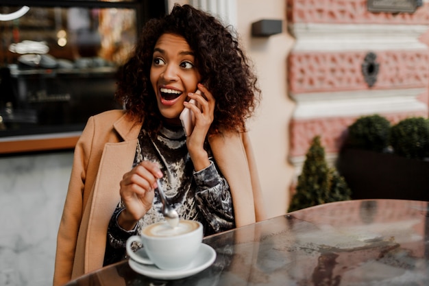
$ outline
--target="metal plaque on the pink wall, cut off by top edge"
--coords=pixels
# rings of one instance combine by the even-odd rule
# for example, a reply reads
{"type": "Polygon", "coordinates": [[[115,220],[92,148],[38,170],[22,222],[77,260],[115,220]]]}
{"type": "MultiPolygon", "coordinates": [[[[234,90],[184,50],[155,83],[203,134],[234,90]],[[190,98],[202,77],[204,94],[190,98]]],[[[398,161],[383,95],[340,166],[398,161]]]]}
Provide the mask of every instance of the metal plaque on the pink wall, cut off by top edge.
{"type": "Polygon", "coordinates": [[[414,13],[423,5],[422,2],[422,0],[368,0],[367,9],[369,12],[414,13]]]}

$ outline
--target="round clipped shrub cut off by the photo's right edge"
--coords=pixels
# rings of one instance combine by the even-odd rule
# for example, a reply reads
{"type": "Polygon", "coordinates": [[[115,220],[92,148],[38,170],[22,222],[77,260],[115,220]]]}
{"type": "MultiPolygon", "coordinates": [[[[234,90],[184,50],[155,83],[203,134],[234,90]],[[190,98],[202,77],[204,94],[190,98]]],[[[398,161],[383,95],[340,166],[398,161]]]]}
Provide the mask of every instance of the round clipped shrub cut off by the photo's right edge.
{"type": "Polygon", "coordinates": [[[391,127],[393,152],[406,158],[429,156],[429,121],[423,117],[403,119],[391,127]]]}

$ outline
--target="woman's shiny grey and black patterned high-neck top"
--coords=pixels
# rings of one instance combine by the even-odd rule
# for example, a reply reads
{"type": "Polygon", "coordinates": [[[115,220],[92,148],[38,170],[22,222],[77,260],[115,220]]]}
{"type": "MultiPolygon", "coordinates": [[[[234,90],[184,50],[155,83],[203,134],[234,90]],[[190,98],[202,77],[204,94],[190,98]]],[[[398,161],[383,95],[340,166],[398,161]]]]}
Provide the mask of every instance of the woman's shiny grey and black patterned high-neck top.
{"type": "MultiPolygon", "coordinates": [[[[156,137],[149,136],[142,129],[138,136],[133,167],[143,160],[157,162],[164,174],[160,182],[168,202],[182,219],[201,222],[204,235],[212,235],[234,228],[235,222],[228,182],[217,169],[208,143],[205,149],[211,164],[206,169],[195,172],[181,126],[166,126],[156,137]]],[[[104,265],[125,257],[125,241],[128,237],[136,235],[149,224],[164,220],[161,209],[158,192],[155,192],[151,209],[140,219],[134,230],[127,231],[117,224],[117,216],[123,210],[123,204],[119,202],[108,227],[104,265]]]]}

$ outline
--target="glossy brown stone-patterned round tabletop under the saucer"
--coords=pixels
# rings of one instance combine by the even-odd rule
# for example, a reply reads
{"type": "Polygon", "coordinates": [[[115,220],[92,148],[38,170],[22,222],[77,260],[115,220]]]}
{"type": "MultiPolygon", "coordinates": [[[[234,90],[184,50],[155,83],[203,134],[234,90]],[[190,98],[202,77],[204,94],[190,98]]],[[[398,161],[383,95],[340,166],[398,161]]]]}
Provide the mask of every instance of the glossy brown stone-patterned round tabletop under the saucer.
{"type": "Polygon", "coordinates": [[[215,262],[163,281],[122,261],[72,285],[429,285],[429,203],[351,200],[305,208],[204,243],[215,262]]]}

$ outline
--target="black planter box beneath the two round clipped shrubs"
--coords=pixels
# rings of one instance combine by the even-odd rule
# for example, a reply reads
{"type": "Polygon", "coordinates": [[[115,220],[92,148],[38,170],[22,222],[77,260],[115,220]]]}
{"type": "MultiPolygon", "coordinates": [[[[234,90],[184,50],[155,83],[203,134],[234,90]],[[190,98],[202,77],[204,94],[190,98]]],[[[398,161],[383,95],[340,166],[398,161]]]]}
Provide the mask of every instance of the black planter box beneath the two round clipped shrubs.
{"type": "Polygon", "coordinates": [[[429,201],[429,162],[394,154],[345,148],[336,169],[353,199],[429,201]]]}

